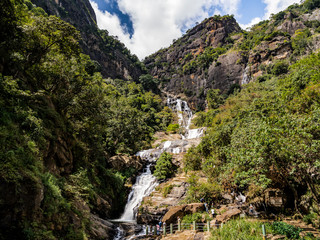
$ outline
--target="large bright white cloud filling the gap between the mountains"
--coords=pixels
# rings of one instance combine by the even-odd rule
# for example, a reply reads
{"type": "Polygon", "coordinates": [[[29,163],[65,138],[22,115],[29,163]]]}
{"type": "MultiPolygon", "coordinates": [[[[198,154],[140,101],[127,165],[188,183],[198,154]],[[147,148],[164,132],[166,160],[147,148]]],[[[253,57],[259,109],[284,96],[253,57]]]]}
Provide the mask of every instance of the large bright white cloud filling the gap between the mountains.
{"type": "Polygon", "coordinates": [[[97,15],[98,26],[118,36],[140,59],[167,47],[182,35],[182,28],[190,28],[197,21],[209,17],[209,9],[219,7],[225,14],[237,14],[241,0],[118,0],[119,8],[133,22],[134,34],[121,28],[116,15],[102,12],[91,2],[97,15]]]}

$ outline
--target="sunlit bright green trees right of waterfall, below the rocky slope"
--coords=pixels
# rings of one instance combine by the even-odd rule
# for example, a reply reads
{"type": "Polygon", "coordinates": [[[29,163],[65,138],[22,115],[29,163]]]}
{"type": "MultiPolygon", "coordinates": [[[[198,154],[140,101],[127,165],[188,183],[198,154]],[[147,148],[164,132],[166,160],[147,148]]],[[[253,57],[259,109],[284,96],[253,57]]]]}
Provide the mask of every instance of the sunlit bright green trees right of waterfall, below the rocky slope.
{"type": "MultiPolygon", "coordinates": [[[[285,73],[282,66],[277,69],[285,73]]],[[[296,210],[310,193],[308,206],[318,212],[319,66],[320,54],[312,54],[286,75],[272,71],[271,79],[248,84],[214,114],[201,113],[196,122],[210,128],[189,150],[185,165],[200,161],[211,179],[247,190],[251,197],[267,187],[288,188],[296,210]]]]}

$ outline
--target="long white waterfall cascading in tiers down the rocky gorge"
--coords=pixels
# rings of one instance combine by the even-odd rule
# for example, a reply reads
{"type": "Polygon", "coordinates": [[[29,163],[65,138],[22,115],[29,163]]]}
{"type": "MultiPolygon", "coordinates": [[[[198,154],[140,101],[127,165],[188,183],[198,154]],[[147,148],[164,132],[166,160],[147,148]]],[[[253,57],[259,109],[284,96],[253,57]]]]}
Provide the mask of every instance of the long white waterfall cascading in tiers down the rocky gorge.
{"type": "Polygon", "coordinates": [[[114,240],[132,239],[136,236],[145,234],[145,229],[142,226],[137,225],[136,216],[143,198],[150,195],[159,184],[152,175],[150,167],[155,165],[161,153],[170,152],[179,154],[185,152],[186,146],[189,143],[188,140],[200,138],[204,133],[203,128],[190,129],[193,114],[186,101],[178,98],[168,98],[167,105],[178,115],[178,122],[182,128],[182,133],[180,134],[182,140],[165,141],[155,149],[143,150],[136,154],[145,160],[147,165],[132,186],[123,214],[119,219],[113,220],[117,225],[114,240]],[[127,232],[128,226],[130,228],[130,234],[127,232]]]}

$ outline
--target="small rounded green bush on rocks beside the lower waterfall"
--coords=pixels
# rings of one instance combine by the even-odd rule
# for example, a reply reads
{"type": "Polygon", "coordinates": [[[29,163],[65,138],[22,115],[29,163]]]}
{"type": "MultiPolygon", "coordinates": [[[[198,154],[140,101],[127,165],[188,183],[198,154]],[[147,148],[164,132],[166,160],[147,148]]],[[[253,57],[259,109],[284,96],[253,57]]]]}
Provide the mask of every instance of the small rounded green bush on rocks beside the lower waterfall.
{"type": "Polygon", "coordinates": [[[172,155],[164,152],[156,163],[153,175],[159,180],[165,180],[173,176],[174,170],[175,166],[172,164],[172,155]]]}

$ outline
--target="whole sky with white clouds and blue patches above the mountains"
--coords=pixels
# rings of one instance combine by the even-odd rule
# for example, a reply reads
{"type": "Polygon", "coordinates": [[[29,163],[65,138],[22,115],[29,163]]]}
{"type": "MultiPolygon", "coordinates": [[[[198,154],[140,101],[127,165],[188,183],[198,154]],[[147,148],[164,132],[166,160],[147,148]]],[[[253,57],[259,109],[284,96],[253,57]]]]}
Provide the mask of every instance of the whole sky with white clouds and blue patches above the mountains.
{"type": "Polygon", "coordinates": [[[140,59],[215,14],[234,14],[242,28],[300,0],[90,0],[99,28],[118,36],[140,59]]]}

